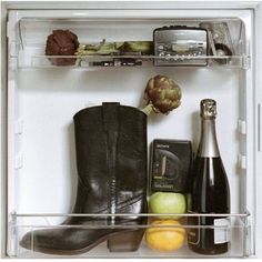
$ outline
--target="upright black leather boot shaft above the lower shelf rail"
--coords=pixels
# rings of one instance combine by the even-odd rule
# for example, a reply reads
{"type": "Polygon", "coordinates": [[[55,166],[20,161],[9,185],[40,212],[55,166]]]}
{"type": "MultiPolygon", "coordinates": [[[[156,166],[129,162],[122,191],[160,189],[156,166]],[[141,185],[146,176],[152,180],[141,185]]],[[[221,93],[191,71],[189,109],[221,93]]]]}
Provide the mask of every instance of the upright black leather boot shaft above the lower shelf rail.
{"type": "Polygon", "coordinates": [[[147,115],[103,103],[74,115],[77,213],[141,213],[147,206],[147,115]]]}

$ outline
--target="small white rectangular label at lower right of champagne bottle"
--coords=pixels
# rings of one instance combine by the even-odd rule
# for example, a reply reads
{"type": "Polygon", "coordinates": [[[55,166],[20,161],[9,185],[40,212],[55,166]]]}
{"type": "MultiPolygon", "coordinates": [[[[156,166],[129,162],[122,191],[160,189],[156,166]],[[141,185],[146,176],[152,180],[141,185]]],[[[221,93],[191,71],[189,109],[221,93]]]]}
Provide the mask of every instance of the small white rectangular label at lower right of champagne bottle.
{"type": "Polygon", "coordinates": [[[229,219],[214,220],[214,243],[215,244],[222,244],[222,243],[229,242],[230,240],[229,225],[230,225],[229,219]]]}

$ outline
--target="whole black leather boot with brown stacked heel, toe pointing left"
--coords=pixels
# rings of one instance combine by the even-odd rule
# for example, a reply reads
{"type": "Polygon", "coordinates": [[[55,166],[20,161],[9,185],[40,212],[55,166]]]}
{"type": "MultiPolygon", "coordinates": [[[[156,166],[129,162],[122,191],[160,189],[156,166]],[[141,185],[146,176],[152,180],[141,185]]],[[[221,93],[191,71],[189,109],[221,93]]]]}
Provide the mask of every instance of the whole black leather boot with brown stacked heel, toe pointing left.
{"type": "MultiPolygon", "coordinates": [[[[79,184],[73,213],[147,213],[147,115],[103,103],[79,111],[74,131],[79,184]]],[[[143,236],[138,225],[144,223],[135,215],[72,216],[60,228],[28,232],[20,245],[78,254],[108,241],[110,251],[134,251],[143,236]]]]}

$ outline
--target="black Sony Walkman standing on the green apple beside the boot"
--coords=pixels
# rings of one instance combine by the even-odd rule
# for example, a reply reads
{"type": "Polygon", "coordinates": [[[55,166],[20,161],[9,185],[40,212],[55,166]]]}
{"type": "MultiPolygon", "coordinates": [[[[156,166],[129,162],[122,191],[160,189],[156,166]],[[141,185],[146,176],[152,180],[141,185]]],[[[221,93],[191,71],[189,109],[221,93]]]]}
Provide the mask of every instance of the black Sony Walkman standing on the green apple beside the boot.
{"type": "Polygon", "coordinates": [[[192,144],[187,140],[153,140],[151,191],[189,192],[192,183],[192,144]]]}

